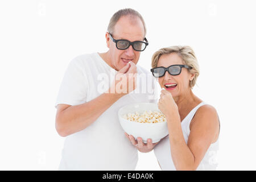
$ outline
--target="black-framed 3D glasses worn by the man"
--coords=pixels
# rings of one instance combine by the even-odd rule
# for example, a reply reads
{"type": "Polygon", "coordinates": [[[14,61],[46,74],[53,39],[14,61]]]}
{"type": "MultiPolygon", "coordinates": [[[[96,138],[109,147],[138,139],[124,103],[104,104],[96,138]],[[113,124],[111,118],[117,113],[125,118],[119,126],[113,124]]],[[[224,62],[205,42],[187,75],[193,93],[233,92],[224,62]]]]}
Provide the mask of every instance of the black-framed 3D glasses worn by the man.
{"type": "Polygon", "coordinates": [[[146,38],[144,38],[146,42],[142,42],[142,41],[130,42],[129,40],[126,40],[126,39],[115,40],[113,36],[110,34],[110,32],[109,32],[109,37],[115,43],[115,46],[121,50],[125,50],[130,46],[132,46],[135,51],[144,51],[144,49],[146,49],[146,47],[148,46],[148,42],[146,38]]]}

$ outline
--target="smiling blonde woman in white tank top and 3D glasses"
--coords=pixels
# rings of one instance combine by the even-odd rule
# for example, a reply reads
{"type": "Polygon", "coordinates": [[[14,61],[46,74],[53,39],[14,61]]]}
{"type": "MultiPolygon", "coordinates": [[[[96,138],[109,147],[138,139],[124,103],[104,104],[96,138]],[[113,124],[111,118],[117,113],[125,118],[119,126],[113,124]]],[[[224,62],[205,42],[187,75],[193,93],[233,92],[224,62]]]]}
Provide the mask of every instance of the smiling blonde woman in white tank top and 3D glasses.
{"type": "Polygon", "coordinates": [[[158,107],[167,118],[168,137],[158,144],[141,143],[126,134],[139,151],[154,147],[163,170],[215,170],[220,123],[213,106],[192,92],[199,76],[195,53],[189,46],[159,49],[152,56],[153,76],[162,89],[158,107]]]}

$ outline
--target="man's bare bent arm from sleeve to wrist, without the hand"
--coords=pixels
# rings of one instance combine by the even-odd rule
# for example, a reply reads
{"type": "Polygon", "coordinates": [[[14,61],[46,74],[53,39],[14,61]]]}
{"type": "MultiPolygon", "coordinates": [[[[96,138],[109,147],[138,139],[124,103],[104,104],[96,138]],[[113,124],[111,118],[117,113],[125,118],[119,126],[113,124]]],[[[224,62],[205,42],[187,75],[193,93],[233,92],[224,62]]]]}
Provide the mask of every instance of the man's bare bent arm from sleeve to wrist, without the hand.
{"type": "Polygon", "coordinates": [[[67,137],[85,129],[121,97],[121,94],[104,93],[81,105],[59,104],[55,121],[57,133],[67,137]]]}

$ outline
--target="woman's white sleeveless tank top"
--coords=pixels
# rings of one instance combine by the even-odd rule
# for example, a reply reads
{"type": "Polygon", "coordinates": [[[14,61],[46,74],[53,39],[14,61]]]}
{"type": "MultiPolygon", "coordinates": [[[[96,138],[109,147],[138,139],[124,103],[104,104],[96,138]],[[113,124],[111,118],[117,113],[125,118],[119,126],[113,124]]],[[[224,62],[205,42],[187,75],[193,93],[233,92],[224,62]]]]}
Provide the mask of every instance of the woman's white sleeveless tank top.
{"type": "MultiPolygon", "coordinates": [[[[191,120],[195,115],[197,109],[203,105],[205,105],[204,102],[201,102],[199,105],[197,105],[194,109],[192,109],[188,113],[188,115],[181,122],[183,137],[186,143],[188,142],[188,137],[190,133],[189,125],[191,123],[191,120]]],[[[210,144],[210,147],[208,148],[203,160],[201,160],[201,163],[199,164],[196,170],[216,170],[218,166],[218,163],[216,160],[217,151],[218,151],[218,139],[216,142],[210,144]]],[[[162,170],[164,171],[176,170],[174,166],[174,162],[172,161],[172,157],[171,157],[171,148],[170,148],[170,141],[169,141],[168,135],[167,137],[160,140],[160,142],[155,146],[154,152],[162,170]]]]}

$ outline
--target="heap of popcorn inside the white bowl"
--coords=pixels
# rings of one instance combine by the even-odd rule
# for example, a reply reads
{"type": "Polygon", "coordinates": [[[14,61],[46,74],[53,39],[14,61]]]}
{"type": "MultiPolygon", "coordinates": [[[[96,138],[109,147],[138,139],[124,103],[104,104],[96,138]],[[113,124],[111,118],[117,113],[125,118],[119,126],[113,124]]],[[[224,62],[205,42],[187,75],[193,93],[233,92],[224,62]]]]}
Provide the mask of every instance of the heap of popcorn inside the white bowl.
{"type": "Polygon", "coordinates": [[[138,123],[160,123],[166,122],[166,117],[162,112],[159,111],[144,111],[144,113],[139,114],[137,111],[135,113],[128,113],[123,115],[124,119],[128,121],[138,122],[138,123]]]}

